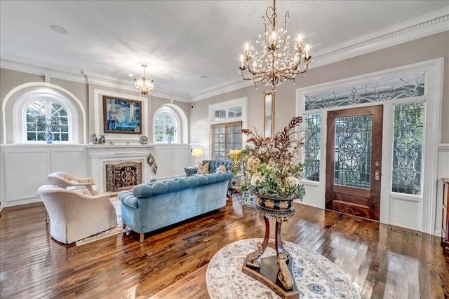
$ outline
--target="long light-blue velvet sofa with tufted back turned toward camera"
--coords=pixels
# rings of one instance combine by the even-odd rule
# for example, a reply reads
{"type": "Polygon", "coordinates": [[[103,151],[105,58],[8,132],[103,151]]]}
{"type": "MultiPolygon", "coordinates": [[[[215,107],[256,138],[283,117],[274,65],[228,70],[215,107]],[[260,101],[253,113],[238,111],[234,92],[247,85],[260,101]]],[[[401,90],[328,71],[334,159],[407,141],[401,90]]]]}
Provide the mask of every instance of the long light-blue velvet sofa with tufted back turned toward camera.
{"type": "Polygon", "coordinates": [[[123,225],[140,234],[184,221],[226,205],[227,185],[232,172],[196,174],[195,176],[154,181],[122,191],[123,225]]]}

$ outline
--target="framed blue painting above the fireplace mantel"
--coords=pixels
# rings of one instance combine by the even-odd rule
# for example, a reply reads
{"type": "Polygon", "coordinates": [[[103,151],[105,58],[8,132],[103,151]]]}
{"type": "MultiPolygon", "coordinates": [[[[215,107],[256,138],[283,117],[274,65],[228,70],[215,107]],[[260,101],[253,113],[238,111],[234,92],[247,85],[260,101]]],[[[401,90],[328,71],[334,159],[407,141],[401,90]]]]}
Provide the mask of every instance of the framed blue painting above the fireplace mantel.
{"type": "Polygon", "coordinates": [[[142,134],[142,102],[103,96],[103,131],[116,134],[142,134]]]}

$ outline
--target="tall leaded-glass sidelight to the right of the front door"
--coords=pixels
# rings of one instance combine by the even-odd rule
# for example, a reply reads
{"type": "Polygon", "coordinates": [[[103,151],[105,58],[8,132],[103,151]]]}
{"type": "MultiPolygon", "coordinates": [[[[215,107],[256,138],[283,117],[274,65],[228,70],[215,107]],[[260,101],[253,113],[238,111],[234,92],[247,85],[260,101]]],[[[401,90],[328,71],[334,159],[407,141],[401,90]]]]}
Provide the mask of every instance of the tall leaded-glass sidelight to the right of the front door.
{"type": "Polygon", "coordinates": [[[421,195],[424,104],[394,106],[391,191],[421,195]]]}

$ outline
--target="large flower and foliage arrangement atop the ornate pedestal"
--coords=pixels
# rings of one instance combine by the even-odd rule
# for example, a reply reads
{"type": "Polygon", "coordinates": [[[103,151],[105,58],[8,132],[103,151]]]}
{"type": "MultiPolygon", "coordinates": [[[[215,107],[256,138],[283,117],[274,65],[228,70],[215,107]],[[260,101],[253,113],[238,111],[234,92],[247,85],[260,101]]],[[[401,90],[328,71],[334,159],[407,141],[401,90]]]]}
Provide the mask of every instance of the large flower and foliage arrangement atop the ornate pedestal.
{"type": "Polygon", "coordinates": [[[243,129],[250,137],[242,151],[243,181],[241,190],[276,197],[302,200],[305,195],[302,186],[302,162],[298,153],[304,146],[302,141],[293,139],[295,127],[302,123],[301,116],[295,116],[281,132],[266,138],[243,129]]]}

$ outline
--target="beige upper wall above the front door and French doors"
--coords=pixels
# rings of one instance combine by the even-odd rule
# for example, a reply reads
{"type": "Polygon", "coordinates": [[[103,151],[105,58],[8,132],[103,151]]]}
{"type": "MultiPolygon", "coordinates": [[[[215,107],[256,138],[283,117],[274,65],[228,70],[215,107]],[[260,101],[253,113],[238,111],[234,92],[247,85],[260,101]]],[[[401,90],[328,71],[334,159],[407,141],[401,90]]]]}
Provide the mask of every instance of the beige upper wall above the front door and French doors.
{"type": "MultiPolygon", "coordinates": [[[[275,127],[278,132],[295,115],[295,90],[310,85],[337,81],[343,78],[401,67],[425,60],[444,57],[443,106],[441,110],[441,143],[449,144],[449,31],[402,43],[397,46],[360,55],[323,67],[313,67],[307,73],[297,76],[296,85],[292,82],[283,83],[276,88],[276,107],[274,111],[275,127]]],[[[237,70],[236,65],[236,70],[237,70]]],[[[208,144],[209,131],[204,123],[208,122],[208,105],[240,97],[248,97],[248,125],[256,126],[262,132],[262,99],[263,90],[267,86],[241,88],[222,95],[203,99],[195,103],[196,108],[191,113],[192,143],[208,144]]]]}

